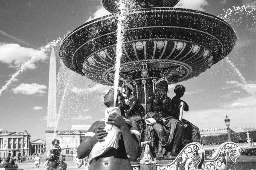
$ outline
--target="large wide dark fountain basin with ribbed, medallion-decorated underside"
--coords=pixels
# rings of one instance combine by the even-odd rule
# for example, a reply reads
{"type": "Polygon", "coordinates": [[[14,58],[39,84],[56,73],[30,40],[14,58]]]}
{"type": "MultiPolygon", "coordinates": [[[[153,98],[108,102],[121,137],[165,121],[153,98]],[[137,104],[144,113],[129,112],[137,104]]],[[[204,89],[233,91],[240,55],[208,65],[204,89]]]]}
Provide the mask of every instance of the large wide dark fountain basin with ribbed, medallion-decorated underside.
{"type": "MultiPolygon", "coordinates": [[[[62,42],[64,64],[81,75],[112,85],[117,15],[85,23],[62,42]]],[[[143,8],[125,11],[120,82],[166,77],[169,84],[198,76],[226,57],[236,43],[228,23],[200,11],[143,8]]]]}

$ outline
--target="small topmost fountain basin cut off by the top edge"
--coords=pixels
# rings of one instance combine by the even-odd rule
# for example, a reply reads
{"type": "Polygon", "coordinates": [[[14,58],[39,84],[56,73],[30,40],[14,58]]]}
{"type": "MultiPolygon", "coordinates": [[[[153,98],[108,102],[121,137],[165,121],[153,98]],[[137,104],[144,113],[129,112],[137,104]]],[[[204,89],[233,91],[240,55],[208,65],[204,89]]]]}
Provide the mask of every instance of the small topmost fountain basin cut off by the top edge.
{"type": "Polygon", "coordinates": [[[125,9],[174,7],[180,0],[102,0],[102,5],[111,13],[118,12],[119,1],[125,9]]]}

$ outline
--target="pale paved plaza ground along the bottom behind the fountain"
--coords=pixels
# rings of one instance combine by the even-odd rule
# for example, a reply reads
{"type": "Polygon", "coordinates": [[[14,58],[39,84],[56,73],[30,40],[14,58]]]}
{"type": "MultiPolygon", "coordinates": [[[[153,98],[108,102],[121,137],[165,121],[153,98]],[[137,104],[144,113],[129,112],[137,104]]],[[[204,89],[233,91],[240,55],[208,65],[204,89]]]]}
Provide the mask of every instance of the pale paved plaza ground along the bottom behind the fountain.
{"type": "MultiPolygon", "coordinates": [[[[76,165],[72,160],[65,161],[67,164],[67,170],[84,170],[83,167],[76,168],[76,165]]],[[[44,168],[44,159],[41,159],[39,168],[35,168],[34,161],[30,162],[17,162],[18,170],[46,170],[44,168]]],[[[122,169],[120,169],[122,170],[122,169]]],[[[256,156],[239,156],[237,163],[228,161],[227,170],[256,170],[256,156]]]]}

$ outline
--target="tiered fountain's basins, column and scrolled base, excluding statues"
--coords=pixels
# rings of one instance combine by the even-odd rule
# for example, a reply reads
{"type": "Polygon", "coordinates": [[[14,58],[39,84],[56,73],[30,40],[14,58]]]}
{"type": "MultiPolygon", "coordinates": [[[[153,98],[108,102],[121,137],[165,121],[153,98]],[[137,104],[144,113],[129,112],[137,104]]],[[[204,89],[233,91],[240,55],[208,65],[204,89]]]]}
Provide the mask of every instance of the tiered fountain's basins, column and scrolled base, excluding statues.
{"type": "MultiPolygon", "coordinates": [[[[173,8],[178,1],[102,0],[113,14],[70,32],[62,42],[60,57],[71,70],[103,85],[113,85],[119,71],[117,84],[131,85],[132,94],[147,111],[147,99],[154,95],[159,80],[165,77],[173,84],[197,77],[227,57],[236,43],[235,32],[224,20],[201,11],[173,8]],[[120,36],[120,15],[125,17],[122,44],[116,38],[120,36]],[[120,47],[120,65],[116,67],[120,47]]],[[[212,159],[205,160],[202,145],[192,142],[176,157],[156,160],[146,137],[141,138],[145,140],[141,160],[147,163],[133,160],[134,170],[224,170],[227,155],[235,162],[240,154],[237,144],[226,142],[212,159]]],[[[83,161],[74,160],[80,167],[83,161]]]]}

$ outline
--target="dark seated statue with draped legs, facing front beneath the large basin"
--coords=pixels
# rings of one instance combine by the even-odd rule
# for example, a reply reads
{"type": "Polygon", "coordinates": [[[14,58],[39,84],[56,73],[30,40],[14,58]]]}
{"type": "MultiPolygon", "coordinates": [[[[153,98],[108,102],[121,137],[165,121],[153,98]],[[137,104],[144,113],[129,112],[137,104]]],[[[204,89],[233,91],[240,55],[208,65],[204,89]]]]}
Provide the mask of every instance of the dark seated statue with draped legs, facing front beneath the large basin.
{"type": "Polygon", "coordinates": [[[146,105],[148,140],[153,142],[157,157],[177,156],[184,125],[172,116],[171,99],[167,96],[167,79],[160,79],[156,88],[155,94],[148,98],[146,105]]]}

